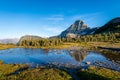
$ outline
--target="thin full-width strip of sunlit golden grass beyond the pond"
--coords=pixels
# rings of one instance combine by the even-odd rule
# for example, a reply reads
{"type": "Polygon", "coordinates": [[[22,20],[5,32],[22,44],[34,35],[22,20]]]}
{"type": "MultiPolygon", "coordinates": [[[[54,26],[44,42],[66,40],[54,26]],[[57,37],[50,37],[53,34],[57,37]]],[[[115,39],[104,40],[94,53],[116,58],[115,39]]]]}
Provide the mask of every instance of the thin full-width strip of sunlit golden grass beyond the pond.
{"type": "Polygon", "coordinates": [[[66,49],[70,47],[84,47],[87,49],[97,48],[97,47],[109,47],[109,48],[120,48],[120,43],[112,43],[112,42],[64,42],[61,45],[57,46],[16,46],[12,44],[0,44],[0,50],[2,49],[9,49],[9,48],[42,48],[42,49],[66,49]]]}

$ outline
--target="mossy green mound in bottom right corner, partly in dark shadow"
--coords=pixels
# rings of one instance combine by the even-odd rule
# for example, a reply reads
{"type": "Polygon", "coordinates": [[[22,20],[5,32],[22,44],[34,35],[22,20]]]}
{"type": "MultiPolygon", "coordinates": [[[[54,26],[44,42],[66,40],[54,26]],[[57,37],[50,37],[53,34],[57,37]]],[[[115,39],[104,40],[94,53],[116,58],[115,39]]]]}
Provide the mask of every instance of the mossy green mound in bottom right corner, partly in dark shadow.
{"type": "Polygon", "coordinates": [[[94,66],[81,69],[78,74],[82,80],[120,80],[120,72],[94,66]]]}

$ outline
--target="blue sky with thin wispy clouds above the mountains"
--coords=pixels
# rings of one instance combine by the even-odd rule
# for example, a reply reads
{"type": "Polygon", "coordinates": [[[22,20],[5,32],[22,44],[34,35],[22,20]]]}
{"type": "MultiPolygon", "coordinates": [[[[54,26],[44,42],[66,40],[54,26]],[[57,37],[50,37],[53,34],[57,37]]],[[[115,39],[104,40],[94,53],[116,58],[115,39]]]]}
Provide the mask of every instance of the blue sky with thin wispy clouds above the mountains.
{"type": "Polygon", "coordinates": [[[60,34],[74,21],[90,27],[120,16],[120,0],[0,0],[0,39],[60,34]]]}

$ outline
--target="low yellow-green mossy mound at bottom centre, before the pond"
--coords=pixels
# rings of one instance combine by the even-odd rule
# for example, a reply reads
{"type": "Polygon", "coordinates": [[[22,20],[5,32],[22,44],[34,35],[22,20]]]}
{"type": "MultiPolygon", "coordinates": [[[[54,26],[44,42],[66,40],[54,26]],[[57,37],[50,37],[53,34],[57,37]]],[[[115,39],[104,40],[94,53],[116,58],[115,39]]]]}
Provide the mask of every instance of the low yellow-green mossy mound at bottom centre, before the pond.
{"type": "Polygon", "coordinates": [[[58,69],[28,69],[8,79],[17,80],[72,80],[66,72],[58,69]]]}

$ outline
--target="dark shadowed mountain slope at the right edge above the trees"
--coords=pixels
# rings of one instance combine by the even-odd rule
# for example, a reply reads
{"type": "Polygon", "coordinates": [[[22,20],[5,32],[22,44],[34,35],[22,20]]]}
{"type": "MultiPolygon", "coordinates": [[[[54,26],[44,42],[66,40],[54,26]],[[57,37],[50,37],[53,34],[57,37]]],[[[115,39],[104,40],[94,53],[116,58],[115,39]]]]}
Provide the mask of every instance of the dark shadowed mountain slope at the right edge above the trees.
{"type": "Polygon", "coordinates": [[[112,19],[95,31],[96,34],[108,32],[120,32],[120,17],[112,19]]]}

